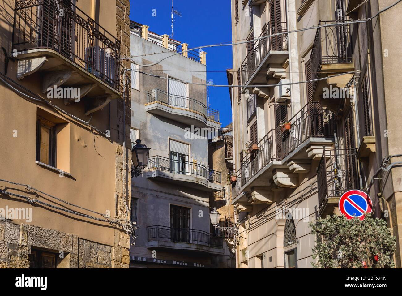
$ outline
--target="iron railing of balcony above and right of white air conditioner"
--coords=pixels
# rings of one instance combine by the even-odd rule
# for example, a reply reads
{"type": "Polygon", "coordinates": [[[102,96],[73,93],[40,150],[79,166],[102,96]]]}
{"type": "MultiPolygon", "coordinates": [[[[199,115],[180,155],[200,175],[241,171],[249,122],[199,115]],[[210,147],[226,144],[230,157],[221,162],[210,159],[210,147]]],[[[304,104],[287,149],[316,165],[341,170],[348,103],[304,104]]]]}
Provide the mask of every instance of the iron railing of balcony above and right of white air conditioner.
{"type": "MultiPolygon", "coordinates": [[[[352,62],[352,42],[350,24],[338,25],[345,21],[320,21],[318,25],[330,25],[317,29],[310,60],[312,80],[320,76],[322,65],[344,64],[352,62]]],[[[312,82],[313,92],[317,81],[312,82]]]]}

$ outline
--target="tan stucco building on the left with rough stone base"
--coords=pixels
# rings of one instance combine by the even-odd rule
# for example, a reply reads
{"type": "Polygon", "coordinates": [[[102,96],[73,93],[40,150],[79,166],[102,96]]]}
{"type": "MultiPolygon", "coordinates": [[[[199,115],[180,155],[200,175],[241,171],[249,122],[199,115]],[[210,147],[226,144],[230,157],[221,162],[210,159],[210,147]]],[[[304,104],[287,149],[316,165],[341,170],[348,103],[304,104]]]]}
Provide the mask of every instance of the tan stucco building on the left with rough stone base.
{"type": "MultiPolygon", "coordinates": [[[[3,155],[0,208],[31,211],[29,220],[3,215],[6,220],[0,226],[1,267],[30,267],[37,252],[35,256],[41,253],[53,258],[49,264],[57,268],[128,268],[131,238],[122,224],[129,219],[126,204],[130,204],[128,188],[131,187],[128,165],[131,163],[131,117],[128,113],[124,119],[123,87],[118,85],[123,77],[119,77],[118,83],[110,81],[120,76],[115,69],[123,67],[118,59],[113,60],[113,63],[117,60],[113,66],[116,68],[111,70],[113,74],[106,73],[110,76],[107,80],[98,72],[90,72],[88,64],[82,66],[89,60],[88,52],[80,56],[82,31],[79,33],[78,29],[74,31],[76,43],[70,47],[70,57],[66,58],[68,54],[50,41],[41,49],[34,49],[34,43],[31,47],[20,44],[22,47],[13,55],[19,40],[16,30],[13,34],[14,13],[16,23],[23,26],[18,23],[18,15],[31,10],[33,15],[43,13],[42,6],[49,3],[56,2],[17,5],[14,1],[3,1],[1,4],[0,39],[14,61],[10,60],[7,74],[1,76],[7,84],[0,82],[0,153],[3,155]],[[38,64],[40,59],[43,63],[38,64]],[[31,68],[21,70],[24,63],[31,68]],[[80,101],[66,102],[66,97],[49,99],[48,93],[42,90],[53,82],[60,87],[89,91],[82,93],[80,101]],[[38,118],[55,126],[55,136],[50,141],[54,142],[52,163],[49,159],[46,159],[49,163],[44,163],[42,152],[38,152],[38,118]]],[[[76,14],[86,15],[103,27],[97,29],[113,42],[109,49],[113,58],[117,54],[129,54],[128,0],[74,1],[72,4],[77,5],[76,14]]],[[[71,8],[62,8],[67,18],[71,8]]],[[[70,26],[78,23],[71,21],[70,26]]],[[[39,37],[43,43],[44,38],[39,37]]],[[[4,58],[0,67],[4,73],[4,58]]],[[[125,100],[129,108],[131,100],[127,96],[125,100]]],[[[45,140],[41,133],[42,143],[45,140]]]]}

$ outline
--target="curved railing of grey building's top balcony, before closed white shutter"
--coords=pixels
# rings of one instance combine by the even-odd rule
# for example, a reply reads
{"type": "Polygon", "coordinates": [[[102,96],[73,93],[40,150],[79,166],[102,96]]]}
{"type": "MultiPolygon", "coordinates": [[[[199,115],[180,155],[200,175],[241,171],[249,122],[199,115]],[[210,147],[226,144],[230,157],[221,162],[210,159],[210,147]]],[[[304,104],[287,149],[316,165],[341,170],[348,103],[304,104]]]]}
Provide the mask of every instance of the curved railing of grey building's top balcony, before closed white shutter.
{"type": "Polygon", "coordinates": [[[171,107],[189,109],[201,113],[206,118],[219,122],[219,111],[205,107],[203,103],[195,99],[172,95],[160,89],[154,89],[147,92],[148,103],[160,102],[171,107]]]}

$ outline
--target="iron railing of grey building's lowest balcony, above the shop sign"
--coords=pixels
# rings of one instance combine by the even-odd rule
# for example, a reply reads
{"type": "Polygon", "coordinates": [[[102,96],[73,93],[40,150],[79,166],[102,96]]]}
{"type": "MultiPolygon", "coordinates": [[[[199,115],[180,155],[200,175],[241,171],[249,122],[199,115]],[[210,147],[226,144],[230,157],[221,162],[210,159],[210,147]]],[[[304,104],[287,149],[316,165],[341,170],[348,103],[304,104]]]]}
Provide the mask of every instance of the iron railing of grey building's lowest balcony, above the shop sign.
{"type": "Polygon", "coordinates": [[[187,243],[223,248],[222,235],[211,234],[203,230],[155,225],[148,226],[147,232],[148,241],[167,240],[172,243],[187,243]]]}

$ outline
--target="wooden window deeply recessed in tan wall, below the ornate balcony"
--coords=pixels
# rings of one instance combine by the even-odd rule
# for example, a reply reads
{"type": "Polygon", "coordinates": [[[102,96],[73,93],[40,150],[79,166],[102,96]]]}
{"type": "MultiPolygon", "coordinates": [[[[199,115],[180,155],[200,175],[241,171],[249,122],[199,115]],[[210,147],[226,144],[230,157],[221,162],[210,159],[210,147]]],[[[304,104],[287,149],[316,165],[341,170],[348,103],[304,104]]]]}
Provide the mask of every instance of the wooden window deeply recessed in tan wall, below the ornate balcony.
{"type": "Polygon", "coordinates": [[[38,118],[36,133],[36,161],[56,167],[56,125],[38,118]]]}

